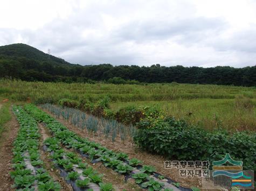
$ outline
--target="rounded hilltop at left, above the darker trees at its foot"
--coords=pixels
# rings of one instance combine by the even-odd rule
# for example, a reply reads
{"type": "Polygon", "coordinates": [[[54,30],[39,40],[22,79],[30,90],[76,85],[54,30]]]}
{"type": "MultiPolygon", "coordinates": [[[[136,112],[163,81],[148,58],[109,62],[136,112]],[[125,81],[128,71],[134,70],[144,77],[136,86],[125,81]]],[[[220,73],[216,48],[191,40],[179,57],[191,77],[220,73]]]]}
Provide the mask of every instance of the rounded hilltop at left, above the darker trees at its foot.
{"type": "Polygon", "coordinates": [[[1,56],[12,58],[25,57],[26,59],[36,60],[38,62],[48,62],[51,60],[51,62],[55,64],[70,64],[61,58],[45,54],[44,52],[23,43],[0,46],[0,58],[1,56]]]}

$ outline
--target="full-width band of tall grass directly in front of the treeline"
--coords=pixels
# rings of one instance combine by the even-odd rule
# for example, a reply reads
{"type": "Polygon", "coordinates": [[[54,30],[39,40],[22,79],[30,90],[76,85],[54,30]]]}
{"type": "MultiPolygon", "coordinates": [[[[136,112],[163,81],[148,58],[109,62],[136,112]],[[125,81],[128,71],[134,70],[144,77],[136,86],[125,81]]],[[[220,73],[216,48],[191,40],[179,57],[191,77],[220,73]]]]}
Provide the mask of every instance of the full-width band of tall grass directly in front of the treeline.
{"type": "Polygon", "coordinates": [[[43,83],[0,79],[0,96],[12,100],[45,103],[60,99],[88,98],[92,101],[109,96],[112,101],[163,101],[176,99],[234,99],[237,95],[256,98],[255,87],[198,84],[114,85],[86,83],[43,83]]]}

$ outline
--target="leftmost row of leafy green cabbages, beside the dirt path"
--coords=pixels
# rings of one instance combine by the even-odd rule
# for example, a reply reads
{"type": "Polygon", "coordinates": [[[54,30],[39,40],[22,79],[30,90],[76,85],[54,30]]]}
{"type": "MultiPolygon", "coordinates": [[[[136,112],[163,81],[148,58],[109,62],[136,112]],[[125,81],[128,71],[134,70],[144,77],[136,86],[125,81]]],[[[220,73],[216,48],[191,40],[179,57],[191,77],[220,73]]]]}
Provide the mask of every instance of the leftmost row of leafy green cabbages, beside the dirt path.
{"type": "Polygon", "coordinates": [[[37,121],[21,107],[13,107],[20,125],[17,138],[13,142],[13,188],[17,190],[60,190],[58,182],[43,168],[39,155],[39,137],[37,121]]]}

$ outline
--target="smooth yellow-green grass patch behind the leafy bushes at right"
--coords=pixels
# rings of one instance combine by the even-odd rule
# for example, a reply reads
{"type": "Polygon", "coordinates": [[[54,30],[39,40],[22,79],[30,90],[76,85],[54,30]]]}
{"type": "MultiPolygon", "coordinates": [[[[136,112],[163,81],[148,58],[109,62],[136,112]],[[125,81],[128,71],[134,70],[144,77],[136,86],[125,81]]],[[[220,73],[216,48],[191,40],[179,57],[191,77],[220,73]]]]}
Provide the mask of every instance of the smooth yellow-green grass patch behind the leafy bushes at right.
{"type": "Polygon", "coordinates": [[[110,108],[117,111],[126,106],[157,106],[168,115],[185,119],[206,129],[256,130],[256,99],[251,107],[236,104],[247,98],[235,99],[176,99],[170,101],[113,102],[110,108]]]}

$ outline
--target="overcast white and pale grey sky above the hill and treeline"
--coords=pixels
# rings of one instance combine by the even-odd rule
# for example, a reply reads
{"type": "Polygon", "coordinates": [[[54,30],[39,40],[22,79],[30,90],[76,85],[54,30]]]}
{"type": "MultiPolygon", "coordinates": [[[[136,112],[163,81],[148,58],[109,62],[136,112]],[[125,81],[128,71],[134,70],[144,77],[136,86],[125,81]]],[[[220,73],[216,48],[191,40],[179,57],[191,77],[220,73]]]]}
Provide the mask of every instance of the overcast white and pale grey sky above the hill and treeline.
{"type": "Polygon", "coordinates": [[[87,65],[256,65],[255,0],[1,0],[0,46],[87,65]]]}

